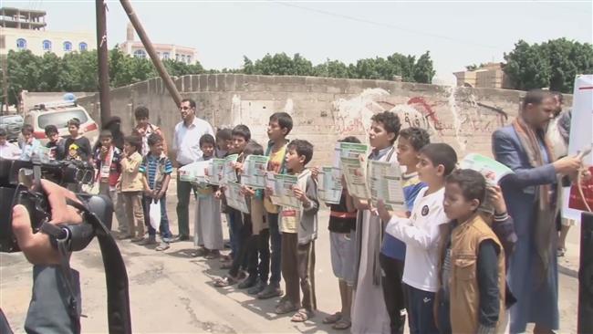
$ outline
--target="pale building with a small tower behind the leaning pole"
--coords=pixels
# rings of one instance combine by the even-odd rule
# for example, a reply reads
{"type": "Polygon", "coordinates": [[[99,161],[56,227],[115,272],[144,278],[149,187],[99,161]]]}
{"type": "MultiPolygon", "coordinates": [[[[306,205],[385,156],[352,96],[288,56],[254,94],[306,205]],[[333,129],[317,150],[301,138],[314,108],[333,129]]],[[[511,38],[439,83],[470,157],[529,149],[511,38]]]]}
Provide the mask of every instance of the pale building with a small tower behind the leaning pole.
{"type": "MultiPolygon", "coordinates": [[[[152,43],[152,46],[157,51],[157,55],[163,60],[175,59],[186,64],[193,64],[198,60],[198,53],[194,47],[182,47],[173,44],[155,43],[152,43]]],[[[131,26],[131,24],[128,24],[126,29],[126,41],[121,43],[120,49],[123,51],[123,53],[130,56],[140,58],[149,57],[148,53],[146,53],[146,49],[142,45],[142,42],[134,40],[134,27],[131,26]]]]}

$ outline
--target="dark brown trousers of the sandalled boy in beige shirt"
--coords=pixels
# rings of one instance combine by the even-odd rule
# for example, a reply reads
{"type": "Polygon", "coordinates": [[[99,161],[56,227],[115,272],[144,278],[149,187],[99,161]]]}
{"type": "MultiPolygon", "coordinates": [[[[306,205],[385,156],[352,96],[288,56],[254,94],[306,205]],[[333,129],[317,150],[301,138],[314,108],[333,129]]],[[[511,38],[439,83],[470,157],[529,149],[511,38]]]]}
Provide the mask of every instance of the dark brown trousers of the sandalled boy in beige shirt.
{"type": "Polygon", "coordinates": [[[317,309],[315,297],[315,242],[298,244],[296,233],[282,234],[282,277],[286,297],[295,305],[307,310],[317,309]],[[303,292],[303,301],[300,292],[303,292]]]}

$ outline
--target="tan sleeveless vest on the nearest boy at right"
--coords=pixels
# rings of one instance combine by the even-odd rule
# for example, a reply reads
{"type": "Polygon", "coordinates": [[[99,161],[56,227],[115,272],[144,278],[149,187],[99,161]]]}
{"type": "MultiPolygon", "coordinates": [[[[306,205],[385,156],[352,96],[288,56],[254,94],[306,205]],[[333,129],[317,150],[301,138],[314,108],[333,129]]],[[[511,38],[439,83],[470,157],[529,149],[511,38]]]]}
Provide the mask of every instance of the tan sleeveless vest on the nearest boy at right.
{"type": "Polygon", "coordinates": [[[500,313],[496,332],[503,332],[505,317],[505,250],[494,232],[480,215],[453,229],[451,235],[451,275],[449,293],[453,333],[476,333],[479,327],[480,293],[477,279],[479,245],[493,240],[499,248],[498,290],[500,313]]]}

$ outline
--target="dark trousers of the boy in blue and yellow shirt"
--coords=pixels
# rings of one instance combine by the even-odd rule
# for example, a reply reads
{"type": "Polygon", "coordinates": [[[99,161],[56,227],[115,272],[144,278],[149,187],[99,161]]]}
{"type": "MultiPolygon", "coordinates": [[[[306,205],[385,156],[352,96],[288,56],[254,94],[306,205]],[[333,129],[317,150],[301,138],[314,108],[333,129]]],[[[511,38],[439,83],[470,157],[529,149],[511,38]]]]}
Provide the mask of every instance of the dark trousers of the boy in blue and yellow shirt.
{"type": "Polygon", "coordinates": [[[401,334],[406,323],[406,316],[401,314],[406,308],[406,298],[401,285],[403,261],[384,254],[380,254],[379,261],[382,269],[381,286],[385,307],[390,315],[391,334],[401,334]]]}

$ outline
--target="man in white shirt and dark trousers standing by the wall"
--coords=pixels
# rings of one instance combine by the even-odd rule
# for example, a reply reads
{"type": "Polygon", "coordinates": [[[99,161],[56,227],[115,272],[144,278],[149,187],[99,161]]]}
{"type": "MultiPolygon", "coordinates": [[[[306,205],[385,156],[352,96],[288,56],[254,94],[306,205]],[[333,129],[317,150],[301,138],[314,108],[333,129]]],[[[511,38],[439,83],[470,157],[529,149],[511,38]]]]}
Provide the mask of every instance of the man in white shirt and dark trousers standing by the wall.
{"type": "MultiPolygon", "coordinates": [[[[182,121],[175,125],[173,137],[173,151],[175,152],[175,167],[180,168],[186,164],[196,162],[202,157],[200,150],[200,138],[204,134],[214,136],[212,125],[206,120],[195,116],[195,101],[183,99],[179,107],[182,114],[182,121]]],[[[177,173],[177,224],[179,235],[172,241],[186,241],[190,239],[190,194],[192,184],[179,180],[177,173]]]]}

